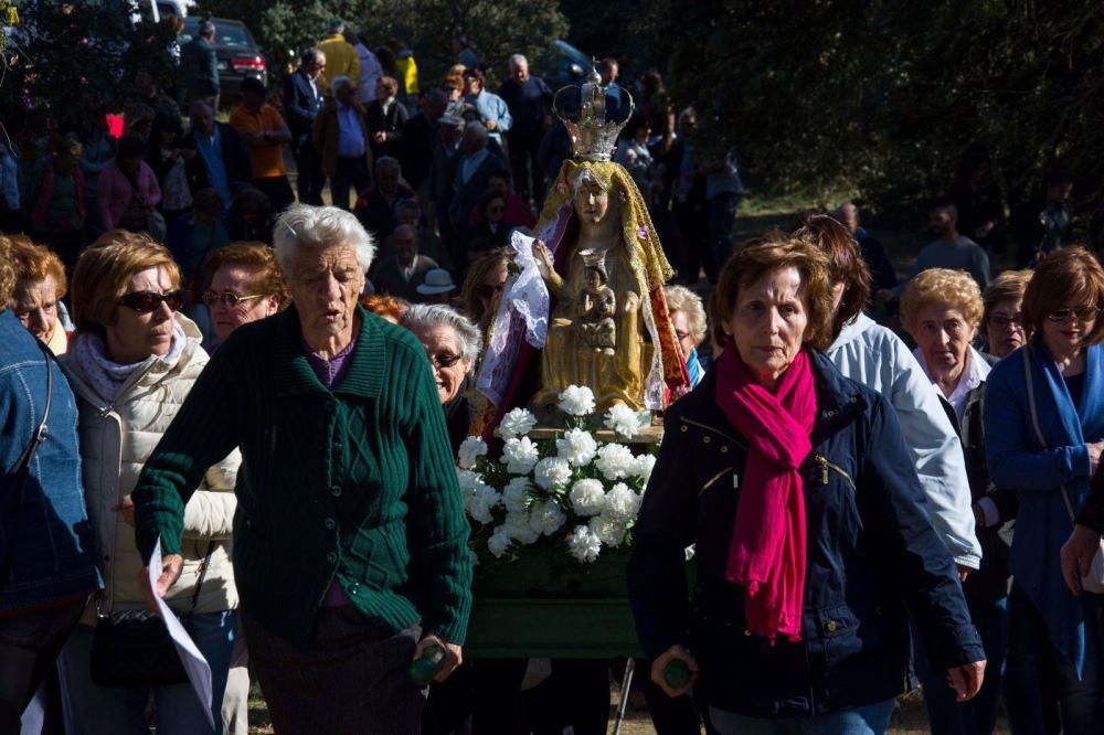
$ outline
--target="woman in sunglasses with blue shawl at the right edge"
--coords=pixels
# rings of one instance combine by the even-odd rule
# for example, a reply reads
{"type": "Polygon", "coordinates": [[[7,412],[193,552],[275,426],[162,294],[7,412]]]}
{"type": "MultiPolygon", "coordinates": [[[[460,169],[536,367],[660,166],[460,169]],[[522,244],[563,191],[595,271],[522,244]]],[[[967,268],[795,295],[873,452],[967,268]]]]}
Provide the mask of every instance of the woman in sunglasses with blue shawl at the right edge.
{"type": "Polygon", "coordinates": [[[1023,294],[1028,342],[987,381],[989,477],[1019,496],[1005,668],[1013,733],[1053,732],[1044,713],[1055,704],[1069,735],[1104,722],[1104,595],[1071,594],[1059,563],[1104,451],[1102,306],[1104,268],[1092,254],[1048,256],[1023,294]]]}

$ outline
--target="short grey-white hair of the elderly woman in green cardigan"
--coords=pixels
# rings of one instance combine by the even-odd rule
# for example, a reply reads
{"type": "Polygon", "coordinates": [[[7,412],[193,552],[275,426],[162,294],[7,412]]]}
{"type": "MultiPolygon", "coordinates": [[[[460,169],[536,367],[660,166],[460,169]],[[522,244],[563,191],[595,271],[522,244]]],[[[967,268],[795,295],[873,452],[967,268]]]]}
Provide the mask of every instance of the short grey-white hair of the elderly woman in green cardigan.
{"type": "Polygon", "coordinates": [[[353,246],[361,271],[367,274],[372,267],[375,242],[352,212],[336,206],[293,204],[276,221],[273,248],[288,280],[294,280],[293,266],[300,248],[325,249],[337,245],[353,246]]]}

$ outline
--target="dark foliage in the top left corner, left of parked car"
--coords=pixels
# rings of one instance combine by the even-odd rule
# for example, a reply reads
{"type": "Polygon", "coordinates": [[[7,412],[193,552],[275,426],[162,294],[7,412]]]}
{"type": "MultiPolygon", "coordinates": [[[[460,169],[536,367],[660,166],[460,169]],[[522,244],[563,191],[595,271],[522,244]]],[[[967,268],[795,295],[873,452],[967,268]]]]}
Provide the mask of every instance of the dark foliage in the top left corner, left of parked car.
{"type": "Polygon", "coordinates": [[[168,23],[132,24],[134,3],[22,3],[19,24],[2,50],[0,107],[20,98],[54,111],[64,122],[89,106],[118,109],[135,72],[145,68],[171,82],[168,23]]]}

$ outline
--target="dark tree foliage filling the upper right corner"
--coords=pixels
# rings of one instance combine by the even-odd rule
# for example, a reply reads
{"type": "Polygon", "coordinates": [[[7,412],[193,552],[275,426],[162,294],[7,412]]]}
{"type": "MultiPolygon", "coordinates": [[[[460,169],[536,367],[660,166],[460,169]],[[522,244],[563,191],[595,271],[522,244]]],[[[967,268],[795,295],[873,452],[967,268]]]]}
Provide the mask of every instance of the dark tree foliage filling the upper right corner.
{"type": "Polygon", "coordinates": [[[1013,196],[1058,159],[1100,185],[1096,0],[647,0],[640,24],[702,142],[784,189],[943,193],[975,140],[1013,196]]]}

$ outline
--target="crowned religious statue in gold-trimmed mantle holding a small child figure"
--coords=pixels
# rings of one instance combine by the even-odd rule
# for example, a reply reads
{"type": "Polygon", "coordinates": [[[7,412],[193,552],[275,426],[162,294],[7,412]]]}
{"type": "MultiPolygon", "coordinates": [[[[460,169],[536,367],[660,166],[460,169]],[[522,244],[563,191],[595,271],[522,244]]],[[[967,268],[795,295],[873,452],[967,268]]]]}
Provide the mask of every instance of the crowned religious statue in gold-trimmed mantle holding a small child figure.
{"type": "MultiPolygon", "coordinates": [[[[582,87],[556,95],[573,158],[549,191],[537,238],[516,234],[511,243],[514,274],[478,380],[498,416],[527,403],[519,394],[526,392],[524,375],[538,365],[528,401],[538,409],[554,405],[569,385],[590,387],[597,412],[616,404],[660,411],[689,390],[662,290],[673,271],[644,196],[629,173],[609,160],[626,120],[606,115],[630,110],[631,100],[612,100],[609,92],[592,74],[582,87]],[[567,92],[578,95],[578,103],[565,116],[559,99],[567,92]]],[[[492,427],[492,413],[476,428],[492,427]]]]}

